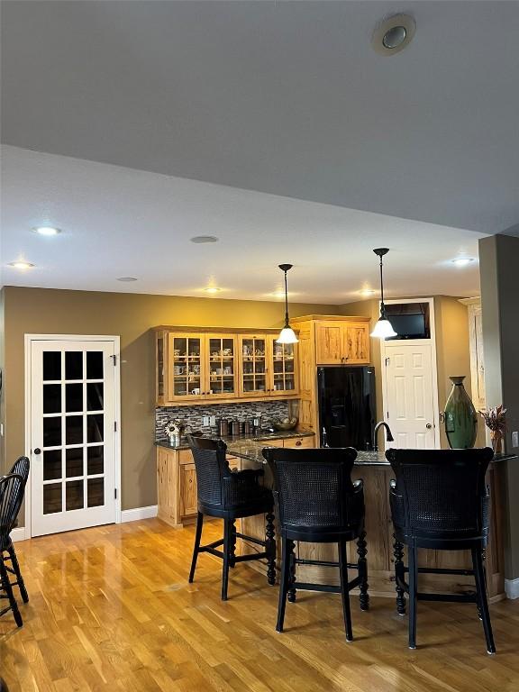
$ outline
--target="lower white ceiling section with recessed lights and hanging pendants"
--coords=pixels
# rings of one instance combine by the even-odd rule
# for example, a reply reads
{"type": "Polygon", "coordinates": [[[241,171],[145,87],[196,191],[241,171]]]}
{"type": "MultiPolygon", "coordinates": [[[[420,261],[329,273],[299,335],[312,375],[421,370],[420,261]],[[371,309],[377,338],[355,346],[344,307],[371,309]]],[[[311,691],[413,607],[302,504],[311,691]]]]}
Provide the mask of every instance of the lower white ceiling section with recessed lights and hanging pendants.
{"type": "Polygon", "coordinates": [[[388,296],[478,292],[478,232],[250,192],[6,146],[1,250],[5,285],[272,300],[291,262],[290,299],[341,304],[378,289],[388,246],[388,296]],[[41,224],[63,232],[44,238],[41,224]],[[196,245],[194,235],[218,243],[196,245]],[[6,267],[26,259],[35,268],[6,267]],[[128,284],[117,277],[133,276],[128,284]]]}

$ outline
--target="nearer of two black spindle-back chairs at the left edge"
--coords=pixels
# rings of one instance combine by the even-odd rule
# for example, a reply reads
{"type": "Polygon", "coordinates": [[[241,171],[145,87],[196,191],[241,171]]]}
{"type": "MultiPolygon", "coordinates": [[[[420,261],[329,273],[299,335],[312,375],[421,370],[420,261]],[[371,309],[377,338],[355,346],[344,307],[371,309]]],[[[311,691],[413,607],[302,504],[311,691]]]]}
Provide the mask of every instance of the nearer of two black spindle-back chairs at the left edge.
{"type": "Polygon", "coordinates": [[[4,553],[12,545],[10,533],[23,501],[25,483],[18,473],[10,473],[0,478],[0,587],[4,593],[0,598],[7,599],[9,605],[0,610],[0,615],[13,611],[14,622],[22,627],[23,620],[14,598],[13,585],[5,567],[4,553]]]}

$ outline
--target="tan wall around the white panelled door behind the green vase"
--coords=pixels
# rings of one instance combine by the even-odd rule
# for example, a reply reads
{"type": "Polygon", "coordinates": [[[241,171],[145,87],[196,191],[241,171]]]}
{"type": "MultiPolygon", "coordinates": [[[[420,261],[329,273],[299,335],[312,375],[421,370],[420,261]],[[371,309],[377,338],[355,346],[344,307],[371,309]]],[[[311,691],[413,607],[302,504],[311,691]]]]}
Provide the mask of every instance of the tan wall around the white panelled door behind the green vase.
{"type": "MultiPolygon", "coordinates": [[[[402,298],[405,300],[405,298],[402,298]]],[[[362,300],[341,305],[341,314],[367,315],[372,324],[378,320],[378,299],[362,300]]],[[[443,410],[451,392],[451,375],[465,375],[465,385],[470,396],[469,319],[467,307],[458,298],[434,296],[434,322],[436,327],[436,358],[438,368],[438,403],[443,410]]],[[[380,340],[371,339],[371,362],[375,368],[377,419],[383,420],[382,374],[380,366],[380,340]]],[[[449,444],[441,425],[442,448],[449,444]]]]}

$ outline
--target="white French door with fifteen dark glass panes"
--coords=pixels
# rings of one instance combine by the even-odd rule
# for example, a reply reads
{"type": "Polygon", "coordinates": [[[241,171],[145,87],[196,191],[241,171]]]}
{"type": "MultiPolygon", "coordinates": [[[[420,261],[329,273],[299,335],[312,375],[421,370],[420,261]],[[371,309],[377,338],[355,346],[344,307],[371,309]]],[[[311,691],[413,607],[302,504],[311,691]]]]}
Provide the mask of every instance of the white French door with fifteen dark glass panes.
{"type": "Polygon", "coordinates": [[[114,349],[31,341],[32,536],[115,521],[114,349]]]}

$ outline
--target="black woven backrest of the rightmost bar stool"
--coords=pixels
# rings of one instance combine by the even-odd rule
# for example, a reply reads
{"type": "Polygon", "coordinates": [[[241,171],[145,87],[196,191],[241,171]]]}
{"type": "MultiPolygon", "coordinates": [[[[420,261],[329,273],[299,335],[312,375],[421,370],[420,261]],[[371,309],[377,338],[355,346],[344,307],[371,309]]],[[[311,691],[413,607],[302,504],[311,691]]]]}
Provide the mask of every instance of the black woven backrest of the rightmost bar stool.
{"type": "Polygon", "coordinates": [[[393,518],[409,535],[466,538],[488,531],[485,474],[494,452],[388,450],[396,475],[393,518]]]}

